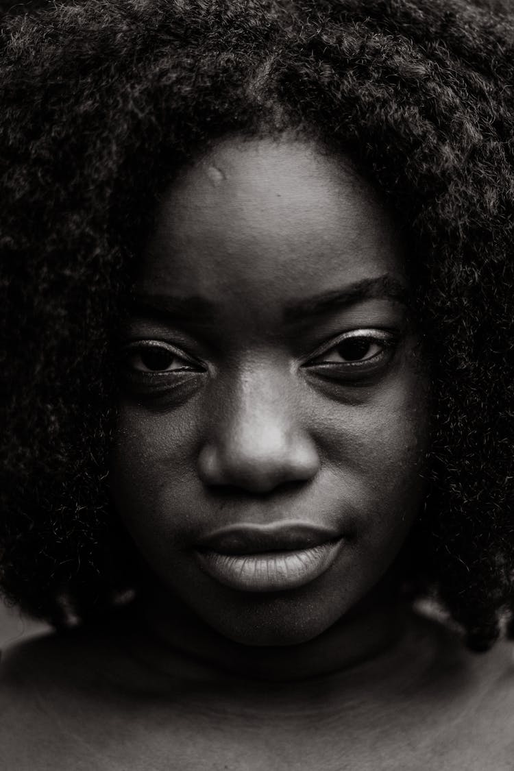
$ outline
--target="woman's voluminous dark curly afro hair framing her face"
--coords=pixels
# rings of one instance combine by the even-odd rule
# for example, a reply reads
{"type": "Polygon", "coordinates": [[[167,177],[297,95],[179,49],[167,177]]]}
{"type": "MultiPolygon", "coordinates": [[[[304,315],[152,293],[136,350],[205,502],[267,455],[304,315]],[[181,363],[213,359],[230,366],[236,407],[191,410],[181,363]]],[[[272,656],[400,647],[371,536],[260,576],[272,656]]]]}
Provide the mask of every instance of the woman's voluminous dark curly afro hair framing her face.
{"type": "Polygon", "coordinates": [[[5,595],[59,626],[143,591],[108,480],[130,266],[185,160],[227,133],[292,129],[350,153],[405,230],[433,399],[405,576],[488,648],[514,576],[508,14],[457,0],[26,5],[4,16],[0,65],[5,595]]]}

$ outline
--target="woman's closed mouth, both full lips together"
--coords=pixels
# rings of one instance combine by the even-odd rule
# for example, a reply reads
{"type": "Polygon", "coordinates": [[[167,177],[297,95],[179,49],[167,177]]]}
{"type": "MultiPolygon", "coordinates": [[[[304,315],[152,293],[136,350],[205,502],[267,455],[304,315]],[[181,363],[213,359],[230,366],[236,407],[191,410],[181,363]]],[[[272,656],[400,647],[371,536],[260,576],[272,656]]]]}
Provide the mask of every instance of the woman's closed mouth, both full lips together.
{"type": "Polygon", "coordinates": [[[201,569],[238,591],[287,591],[319,577],[341,550],[341,534],[324,527],[280,523],[226,527],[204,537],[201,569]]]}

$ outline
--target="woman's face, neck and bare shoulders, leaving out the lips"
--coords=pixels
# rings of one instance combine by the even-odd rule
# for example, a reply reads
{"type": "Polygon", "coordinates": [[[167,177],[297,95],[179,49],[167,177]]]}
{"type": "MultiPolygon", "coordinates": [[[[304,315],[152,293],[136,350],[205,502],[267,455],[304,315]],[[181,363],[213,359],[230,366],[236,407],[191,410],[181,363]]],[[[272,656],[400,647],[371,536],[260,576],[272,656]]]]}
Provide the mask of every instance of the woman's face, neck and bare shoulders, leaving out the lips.
{"type": "Polygon", "coordinates": [[[428,445],[406,259],[371,187],[307,140],[230,138],[166,191],[112,458],[153,578],[136,618],[8,656],[9,767],[510,767],[508,647],[474,657],[394,580],[428,445]],[[331,563],[241,591],[197,560],[206,528],[270,520],[338,528],[331,563]]]}

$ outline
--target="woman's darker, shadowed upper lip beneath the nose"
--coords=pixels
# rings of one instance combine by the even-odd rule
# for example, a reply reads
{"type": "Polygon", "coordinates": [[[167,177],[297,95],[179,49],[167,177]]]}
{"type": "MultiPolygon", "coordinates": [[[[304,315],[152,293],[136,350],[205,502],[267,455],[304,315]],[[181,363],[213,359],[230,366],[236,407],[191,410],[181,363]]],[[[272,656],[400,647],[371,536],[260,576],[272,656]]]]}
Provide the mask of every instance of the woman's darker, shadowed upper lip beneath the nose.
{"type": "Polygon", "coordinates": [[[299,522],[243,523],[213,530],[200,538],[196,546],[220,554],[264,554],[311,549],[340,537],[341,533],[331,527],[299,522]]]}

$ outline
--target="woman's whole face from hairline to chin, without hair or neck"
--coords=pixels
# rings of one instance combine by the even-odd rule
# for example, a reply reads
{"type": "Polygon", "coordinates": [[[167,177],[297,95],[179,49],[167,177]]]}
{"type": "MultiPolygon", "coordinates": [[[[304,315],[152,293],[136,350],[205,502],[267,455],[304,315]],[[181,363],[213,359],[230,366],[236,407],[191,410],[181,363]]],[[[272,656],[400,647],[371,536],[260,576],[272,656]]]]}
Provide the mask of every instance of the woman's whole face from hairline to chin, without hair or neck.
{"type": "Polygon", "coordinates": [[[113,499],[170,598],[228,638],[314,638],[398,554],[427,439],[406,289],[378,197],[307,140],[224,140],[161,200],[113,499]]]}

